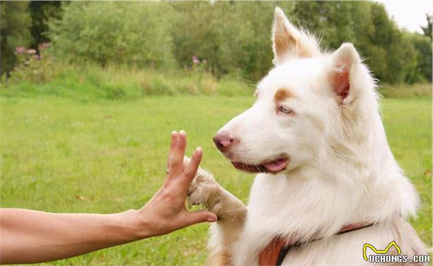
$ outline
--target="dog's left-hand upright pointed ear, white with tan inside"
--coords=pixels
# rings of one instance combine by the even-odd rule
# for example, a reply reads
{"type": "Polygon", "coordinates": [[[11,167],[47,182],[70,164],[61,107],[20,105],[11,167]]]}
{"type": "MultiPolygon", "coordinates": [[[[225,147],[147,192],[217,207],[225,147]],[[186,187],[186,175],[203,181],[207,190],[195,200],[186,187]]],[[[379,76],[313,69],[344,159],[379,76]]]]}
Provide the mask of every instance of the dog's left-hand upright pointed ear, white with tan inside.
{"type": "Polygon", "coordinates": [[[320,55],[318,41],[314,36],[293,26],[278,7],[275,8],[272,40],[275,65],[279,65],[285,60],[320,55]]]}

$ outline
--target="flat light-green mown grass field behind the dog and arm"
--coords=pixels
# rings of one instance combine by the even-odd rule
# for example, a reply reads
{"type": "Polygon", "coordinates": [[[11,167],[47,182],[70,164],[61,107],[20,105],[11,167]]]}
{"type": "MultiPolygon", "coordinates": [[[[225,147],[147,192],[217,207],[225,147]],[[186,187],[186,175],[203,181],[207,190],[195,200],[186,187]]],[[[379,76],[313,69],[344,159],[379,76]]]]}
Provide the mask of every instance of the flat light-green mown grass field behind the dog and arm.
{"type": "MultiPolygon", "coordinates": [[[[202,146],[202,166],[246,202],[254,176],[234,170],[214,148],[212,136],[253,100],[2,97],[0,206],[100,213],[140,208],[162,184],[170,132],[181,129],[188,133],[188,154],[202,146]]],[[[384,100],[382,109],[392,151],[423,201],[411,223],[431,246],[431,100],[384,100]]],[[[197,225],[53,264],[202,265],[207,228],[197,225]]]]}

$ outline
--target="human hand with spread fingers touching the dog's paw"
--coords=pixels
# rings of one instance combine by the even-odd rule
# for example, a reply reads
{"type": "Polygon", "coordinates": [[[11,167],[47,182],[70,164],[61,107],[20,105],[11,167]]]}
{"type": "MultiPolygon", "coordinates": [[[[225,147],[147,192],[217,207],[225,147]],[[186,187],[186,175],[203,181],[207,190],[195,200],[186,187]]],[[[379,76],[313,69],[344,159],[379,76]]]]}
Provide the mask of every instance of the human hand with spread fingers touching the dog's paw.
{"type": "Polygon", "coordinates": [[[187,190],[197,173],[203,151],[197,148],[190,163],[184,166],[185,148],[186,133],[174,131],[171,134],[166,181],[151,201],[136,213],[137,219],[142,221],[145,237],[168,234],[195,223],[217,220],[216,215],[208,210],[186,210],[187,190]]]}

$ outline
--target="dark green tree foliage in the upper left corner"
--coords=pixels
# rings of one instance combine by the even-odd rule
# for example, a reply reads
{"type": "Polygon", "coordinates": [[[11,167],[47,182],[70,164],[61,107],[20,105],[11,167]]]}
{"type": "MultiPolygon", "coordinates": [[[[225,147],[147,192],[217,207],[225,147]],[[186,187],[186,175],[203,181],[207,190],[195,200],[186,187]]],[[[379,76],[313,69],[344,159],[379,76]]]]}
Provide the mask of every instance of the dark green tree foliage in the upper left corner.
{"type": "Polygon", "coordinates": [[[12,69],[16,61],[15,48],[32,43],[30,14],[26,1],[0,1],[1,65],[0,74],[12,69]]]}

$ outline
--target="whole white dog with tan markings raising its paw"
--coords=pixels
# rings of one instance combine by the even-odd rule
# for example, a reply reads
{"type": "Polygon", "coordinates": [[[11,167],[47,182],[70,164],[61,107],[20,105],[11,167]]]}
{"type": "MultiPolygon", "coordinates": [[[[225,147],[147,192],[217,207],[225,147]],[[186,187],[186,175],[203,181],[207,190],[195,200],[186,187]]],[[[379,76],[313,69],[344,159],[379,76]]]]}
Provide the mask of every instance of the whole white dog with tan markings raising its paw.
{"type": "Polygon", "coordinates": [[[256,102],[214,137],[235,168],[258,173],[248,206],[202,169],[188,191],[190,203],[219,216],[209,262],[373,265],[364,244],[384,250],[392,241],[401,251],[389,248],[392,265],[398,254],[426,254],[406,221],[417,192],[392,156],[375,80],[355,47],[322,52],[279,8],[273,41],[276,67],[256,102]]]}

